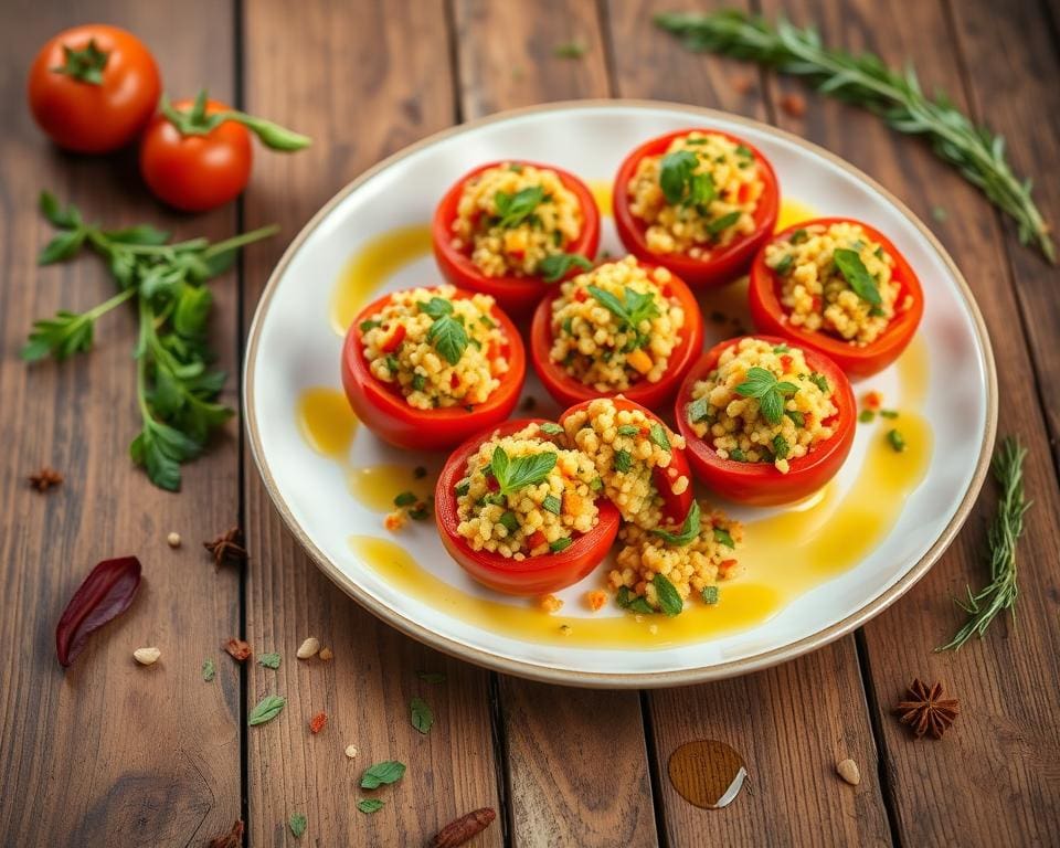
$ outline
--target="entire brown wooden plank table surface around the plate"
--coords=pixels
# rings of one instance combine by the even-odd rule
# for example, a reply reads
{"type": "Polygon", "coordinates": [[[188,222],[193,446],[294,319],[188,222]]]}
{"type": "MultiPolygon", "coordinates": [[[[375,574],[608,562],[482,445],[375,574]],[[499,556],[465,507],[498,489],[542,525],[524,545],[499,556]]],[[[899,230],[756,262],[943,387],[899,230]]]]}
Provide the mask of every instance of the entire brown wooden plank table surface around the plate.
{"type": "MultiPolygon", "coordinates": [[[[739,3],[743,4],[743,3],[739,3]]],[[[250,845],[414,846],[483,806],[498,822],[477,845],[1057,845],[1060,840],[1060,279],[1019,245],[975,190],[916,140],[799,83],[740,62],[690,54],[650,25],[686,0],[6,0],[0,8],[0,842],[19,846],[204,845],[247,822],[250,845]],[[161,210],[128,157],[52,148],[24,107],[38,47],[100,20],[141,36],[166,88],[215,96],[311,135],[297,156],[262,153],[242,200],[198,218],[161,210]],[[553,55],[579,40],[581,59],[553,55]],[[1018,623],[982,643],[933,654],[958,626],[951,596],[984,581],[989,486],[942,560],[905,597],[855,635],[778,668],[725,682],[645,692],[581,691],[490,674],[377,622],[337,590],[282,526],[240,428],[187,467],[183,491],[131,468],[137,425],[130,315],[110,316],[87,357],[28,368],[28,328],[56,308],[84,309],[112,285],[85,258],[39,269],[50,227],[35,198],[51,189],[89,219],[141,220],[180,236],[224,237],[279,222],[212,284],[213,338],[239,399],[246,328],[284,246],[339,188],[399,148],[499,109],[580,97],[648,97],[713,106],[775,124],[847,158],[930,221],[967,276],[989,326],[1001,383],[1000,434],[1029,446],[1035,507],[1020,545],[1018,623]],[[945,220],[932,210],[945,210],[945,220]],[[47,464],[65,484],[47,496],[25,475],[47,464]],[[214,571],[200,540],[233,523],[247,534],[242,571],[214,571]],[[176,530],[179,550],[166,545],[176,530]],[[136,553],[140,597],[65,674],[55,622],[100,559],[136,553]],[[330,664],[294,653],[307,635],[330,664]],[[243,635],[285,655],[278,672],[240,667],[219,643],[243,635]],[[161,647],[145,672],[130,659],[161,647]],[[200,678],[214,656],[218,679],[200,678]],[[409,724],[416,671],[444,671],[427,736],[409,724]],[[277,677],[283,720],[247,732],[247,704],[277,677]],[[940,742],[911,738],[890,713],[913,677],[939,679],[962,714],[940,742]],[[330,717],[319,736],[306,720],[330,717]],[[723,812],[682,801],[665,764],[696,739],[745,757],[751,791],[723,812]],[[357,760],[343,755],[348,743],[357,760]],[[857,787],[835,764],[860,764],[857,787]],[[354,806],[374,761],[409,763],[382,812],[354,806]],[[296,841],[286,828],[303,812],[296,841]]],[[[706,6],[706,4],[702,4],[706,6]]],[[[778,0],[753,3],[770,17],[778,0]]],[[[914,59],[1008,139],[1060,222],[1060,60],[1056,0],[795,0],[797,22],[827,42],[914,59]],[[1004,14],[999,10],[1004,8],[1004,14]]]]}

